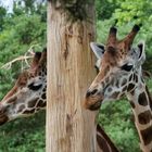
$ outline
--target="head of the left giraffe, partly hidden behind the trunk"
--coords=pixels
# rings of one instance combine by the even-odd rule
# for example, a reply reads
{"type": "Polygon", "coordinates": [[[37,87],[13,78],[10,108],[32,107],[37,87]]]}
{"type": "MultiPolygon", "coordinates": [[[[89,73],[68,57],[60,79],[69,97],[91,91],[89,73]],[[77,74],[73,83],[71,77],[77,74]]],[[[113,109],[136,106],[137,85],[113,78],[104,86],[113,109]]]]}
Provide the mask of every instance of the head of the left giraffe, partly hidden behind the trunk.
{"type": "Polygon", "coordinates": [[[47,50],[37,52],[30,67],[0,102],[0,125],[46,107],[47,50]]]}

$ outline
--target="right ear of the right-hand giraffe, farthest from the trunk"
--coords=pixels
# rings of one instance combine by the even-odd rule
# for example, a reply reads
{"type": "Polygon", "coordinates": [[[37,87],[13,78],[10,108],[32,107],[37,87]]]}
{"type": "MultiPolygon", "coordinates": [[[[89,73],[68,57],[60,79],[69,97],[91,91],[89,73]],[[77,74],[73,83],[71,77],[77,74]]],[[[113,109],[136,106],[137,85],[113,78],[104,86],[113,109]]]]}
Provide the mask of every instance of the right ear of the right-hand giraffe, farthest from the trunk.
{"type": "Polygon", "coordinates": [[[143,63],[145,60],[145,52],[144,52],[144,41],[140,41],[138,45],[138,61],[143,63]]]}

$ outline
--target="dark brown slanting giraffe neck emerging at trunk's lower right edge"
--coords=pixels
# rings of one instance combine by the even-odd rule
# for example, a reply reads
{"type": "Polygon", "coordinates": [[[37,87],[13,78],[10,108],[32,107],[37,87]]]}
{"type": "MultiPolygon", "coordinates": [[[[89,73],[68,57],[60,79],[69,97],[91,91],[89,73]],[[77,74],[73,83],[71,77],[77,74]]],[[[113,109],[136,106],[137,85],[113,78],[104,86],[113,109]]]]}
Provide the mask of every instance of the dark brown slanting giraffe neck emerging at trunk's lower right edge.
{"type": "Polygon", "coordinates": [[[97,125],[97,147],[98,152],[119,152],[100,125],[97,125]]]}

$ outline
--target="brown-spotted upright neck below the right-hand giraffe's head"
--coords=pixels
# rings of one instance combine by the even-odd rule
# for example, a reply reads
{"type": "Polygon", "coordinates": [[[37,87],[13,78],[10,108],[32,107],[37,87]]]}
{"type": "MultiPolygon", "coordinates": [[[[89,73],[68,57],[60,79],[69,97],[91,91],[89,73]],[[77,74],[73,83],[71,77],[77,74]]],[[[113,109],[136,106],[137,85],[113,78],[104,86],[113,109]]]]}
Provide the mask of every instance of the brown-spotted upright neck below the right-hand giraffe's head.
{"type": "MultiPolygon", "coordinates": [[[[139,77],[139,76],[138,76],[139,77]]],[[[152,152],[152,100],[143,80],[129,94],[143,152],[152,152]]]]}

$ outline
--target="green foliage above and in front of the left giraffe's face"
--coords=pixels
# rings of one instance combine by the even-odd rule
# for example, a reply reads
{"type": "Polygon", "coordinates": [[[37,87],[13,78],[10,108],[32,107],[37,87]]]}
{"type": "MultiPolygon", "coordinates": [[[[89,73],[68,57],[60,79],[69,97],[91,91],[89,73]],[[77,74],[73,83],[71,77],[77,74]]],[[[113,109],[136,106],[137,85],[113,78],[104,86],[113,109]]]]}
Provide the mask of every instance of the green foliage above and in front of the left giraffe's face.
{"type": "MultiPolygon", "coordinates": [[[[25,14],[24,8],[14,8],[14,12],[17,12],[16,14],[5,15],[2,25],[3,30],[0,31],[0,66],[24,54],[31,46],[46,46],[47,17],[43,16],[45,8],[41,12],[33,14],[25,14]]],[[[15,64],[10,71],[0,69],[0,98],[12,86],[15,76],[20,73],[18,69],[21,69],[18,64],[15,64]]]]}

